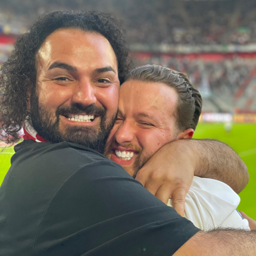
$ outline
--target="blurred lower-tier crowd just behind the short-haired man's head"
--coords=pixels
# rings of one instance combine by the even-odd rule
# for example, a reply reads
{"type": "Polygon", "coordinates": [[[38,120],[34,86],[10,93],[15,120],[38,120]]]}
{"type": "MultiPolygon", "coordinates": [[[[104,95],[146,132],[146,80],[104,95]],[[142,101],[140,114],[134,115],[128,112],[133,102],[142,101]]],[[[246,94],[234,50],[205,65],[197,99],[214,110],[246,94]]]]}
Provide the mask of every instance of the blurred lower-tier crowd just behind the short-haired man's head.
{"type": "Polygon", "coordinates": [[[216,94],[225,93],[227,89],[229,96],[234,96],[248,77],[253,79],[252,71],[256,67],[254,58],[238,56],[215,61],[189,58],[189,55],[133,54],[132,57],[136,66],[154,63],[188,74],[191,82],[202,90],[202,94],[207,93],[207,90],[216,94]]]}

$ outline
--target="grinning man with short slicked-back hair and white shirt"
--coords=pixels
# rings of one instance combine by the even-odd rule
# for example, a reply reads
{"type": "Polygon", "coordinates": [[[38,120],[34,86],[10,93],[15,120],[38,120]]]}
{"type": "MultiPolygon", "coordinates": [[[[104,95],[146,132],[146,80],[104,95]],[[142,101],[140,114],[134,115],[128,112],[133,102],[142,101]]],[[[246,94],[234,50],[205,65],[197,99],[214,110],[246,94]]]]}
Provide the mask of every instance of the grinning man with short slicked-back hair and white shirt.
{"type": "MultiPolygon", "coordinates": [[[[136,178],[163,145],[192,138],[202,98],[185,74],[145,65],[127,75],[118,105],[105,155],[136,178]]],[[[249,229],[248,221],[236,210],[239,202],[239,196],[223,182],[195,176],[186,195],[185,217],[202,230],[249,229]]]]}

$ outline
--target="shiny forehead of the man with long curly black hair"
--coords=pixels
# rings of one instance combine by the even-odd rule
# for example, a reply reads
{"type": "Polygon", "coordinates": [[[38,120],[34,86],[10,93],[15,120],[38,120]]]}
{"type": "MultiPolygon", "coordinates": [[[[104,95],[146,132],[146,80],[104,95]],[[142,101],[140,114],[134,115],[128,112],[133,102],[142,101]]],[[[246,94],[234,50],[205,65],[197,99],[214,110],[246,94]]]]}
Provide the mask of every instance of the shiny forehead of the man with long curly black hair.
{"type": "Polygon", "coordinates": [[[58,29],[49,35],[37,54],[38,64],[51,65],[54,61],[74,66],[111,65],[117,60],[110,42],[99,33],[80,29],[58,29]]]}

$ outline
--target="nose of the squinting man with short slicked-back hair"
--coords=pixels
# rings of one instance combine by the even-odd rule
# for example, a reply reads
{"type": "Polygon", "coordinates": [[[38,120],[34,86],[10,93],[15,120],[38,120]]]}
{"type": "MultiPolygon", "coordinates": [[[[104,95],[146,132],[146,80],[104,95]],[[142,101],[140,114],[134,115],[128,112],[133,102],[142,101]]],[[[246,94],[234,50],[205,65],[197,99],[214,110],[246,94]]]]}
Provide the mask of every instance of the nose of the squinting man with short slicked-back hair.
{"type": "Polygon", "coordinates": [[[130,143],[135,139],[135,129],[128,121],[124,121],[115,133],[115,141],[118,144],[130,143]]]}

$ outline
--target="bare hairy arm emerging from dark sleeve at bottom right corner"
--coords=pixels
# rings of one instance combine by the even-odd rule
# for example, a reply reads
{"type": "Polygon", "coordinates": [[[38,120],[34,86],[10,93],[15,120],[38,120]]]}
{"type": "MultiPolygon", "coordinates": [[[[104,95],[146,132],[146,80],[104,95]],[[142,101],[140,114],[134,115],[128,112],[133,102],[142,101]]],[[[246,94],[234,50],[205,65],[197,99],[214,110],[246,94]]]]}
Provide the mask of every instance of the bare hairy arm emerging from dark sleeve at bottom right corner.
{"type": "Polygon", "coordinates": [[[256,232],[216,229],[198,232],[174,256],[255,256],[256,232]]]}

